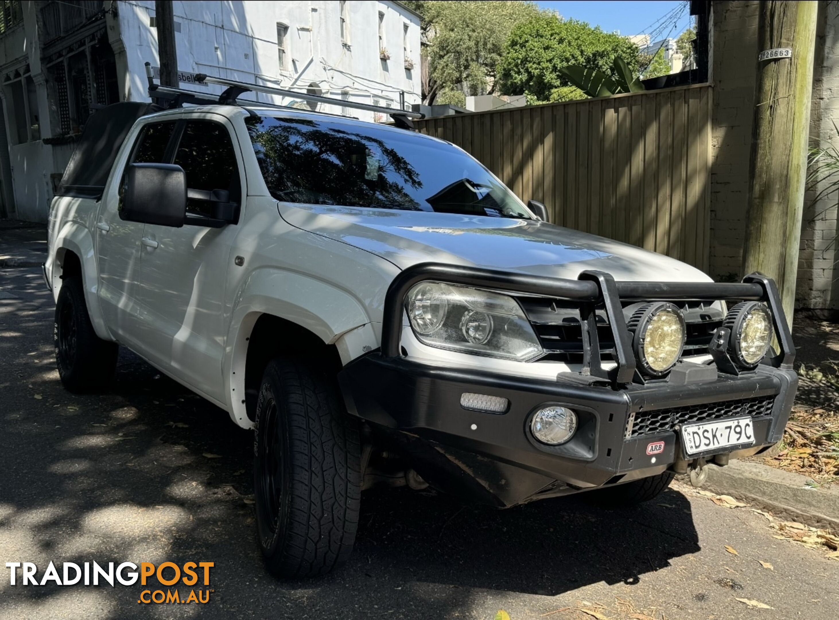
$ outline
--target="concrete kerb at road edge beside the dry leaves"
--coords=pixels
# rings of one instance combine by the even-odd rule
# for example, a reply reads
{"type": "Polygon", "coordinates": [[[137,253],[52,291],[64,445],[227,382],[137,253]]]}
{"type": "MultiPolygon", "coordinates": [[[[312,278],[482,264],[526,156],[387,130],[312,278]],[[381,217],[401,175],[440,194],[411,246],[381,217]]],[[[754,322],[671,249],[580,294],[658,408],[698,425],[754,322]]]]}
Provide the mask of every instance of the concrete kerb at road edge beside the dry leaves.
{"type": "Polygon", "coordinates": [[[839,532],[839,488],[813,487],[812,478],[749,461],[708,466],[704,488],[731,495],[776,517],[839,532]]]}

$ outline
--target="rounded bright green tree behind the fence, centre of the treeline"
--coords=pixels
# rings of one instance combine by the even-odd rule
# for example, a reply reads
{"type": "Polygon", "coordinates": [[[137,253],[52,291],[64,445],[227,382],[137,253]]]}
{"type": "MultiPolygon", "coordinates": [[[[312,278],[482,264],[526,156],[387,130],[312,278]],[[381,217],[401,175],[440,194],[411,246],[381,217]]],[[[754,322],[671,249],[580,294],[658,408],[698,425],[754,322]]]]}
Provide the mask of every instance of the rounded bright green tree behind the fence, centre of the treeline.
{"type": "Polygon", "coordinates": [[[586,22],[542,12],[513,28],[504,45],[498,76],[506,95],[527,95],[539,102],[567,101],[580,98],[580,91],[569,90],[575,85],[562,68],[575,65],[618,79],[616,58],[623,59],[638,75],[641,55],[629,39],[586,22]]]}

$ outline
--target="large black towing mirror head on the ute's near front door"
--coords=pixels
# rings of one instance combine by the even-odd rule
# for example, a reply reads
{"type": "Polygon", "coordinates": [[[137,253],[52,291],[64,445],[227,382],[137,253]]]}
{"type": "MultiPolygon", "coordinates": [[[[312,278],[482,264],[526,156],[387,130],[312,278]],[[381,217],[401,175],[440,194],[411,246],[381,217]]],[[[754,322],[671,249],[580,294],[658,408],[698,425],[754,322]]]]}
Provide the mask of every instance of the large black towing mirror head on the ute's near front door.
{"type": "Polygon", "coordinates": [[[131,164],[119,216],[127,221],[180,228],[186,220],[186,173],[174,164],[131,164]]]}

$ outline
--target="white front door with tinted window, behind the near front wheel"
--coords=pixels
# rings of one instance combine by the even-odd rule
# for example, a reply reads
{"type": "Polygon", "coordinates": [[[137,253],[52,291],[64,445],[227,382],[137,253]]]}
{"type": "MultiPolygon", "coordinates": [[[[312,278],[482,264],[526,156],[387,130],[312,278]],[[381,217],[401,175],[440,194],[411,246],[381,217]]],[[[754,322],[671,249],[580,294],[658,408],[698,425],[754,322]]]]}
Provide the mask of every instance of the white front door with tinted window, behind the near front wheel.
{"type": "MultiPolygon", "coordinates": [[[[226,190],[230,202],[242,204],[242,158],[231,134],[227,119],[213,114],[182,122],[172,163],[186,173],[187,216],[212,215],[211,202],[201,200],[212,190],[226,190]]],[[[143,349],[150,361],[221,403],[227,402],[224,293],[236,234],[236,224],[143,228],[143,349]]]]}

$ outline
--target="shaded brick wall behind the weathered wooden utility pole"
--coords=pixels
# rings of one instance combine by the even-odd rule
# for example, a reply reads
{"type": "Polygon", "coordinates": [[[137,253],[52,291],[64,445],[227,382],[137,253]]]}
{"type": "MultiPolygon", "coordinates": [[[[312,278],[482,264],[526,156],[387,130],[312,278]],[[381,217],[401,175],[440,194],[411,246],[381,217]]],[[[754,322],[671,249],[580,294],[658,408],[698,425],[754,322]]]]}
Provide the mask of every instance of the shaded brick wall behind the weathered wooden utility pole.
{"type": "MultiPolygon", "coordinates": [[[[758,2],[715,2],[711,37],[711,260],[714,279],[739,279],[748,201],[749,155],[758,55],[758,2]]],[[[839,5],[821,0],[816,37],[810,136],[839,148],[839,5]]],[[[796,305],[839,309],[836,192],[805,195],[796,305]],[[816,198],[818,197],[818,200],[816,198]]]]}

